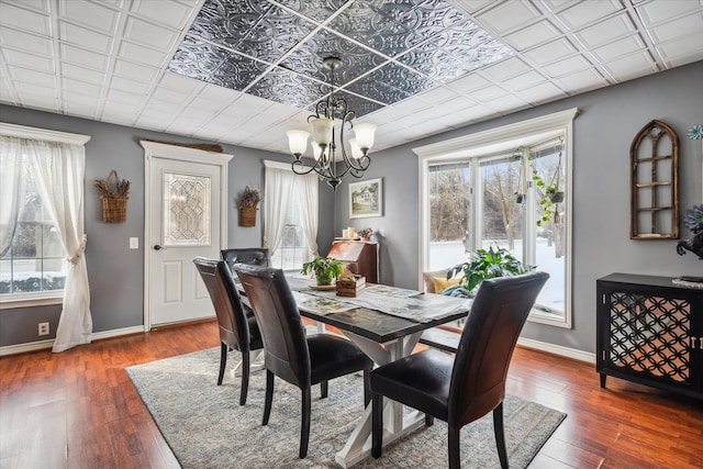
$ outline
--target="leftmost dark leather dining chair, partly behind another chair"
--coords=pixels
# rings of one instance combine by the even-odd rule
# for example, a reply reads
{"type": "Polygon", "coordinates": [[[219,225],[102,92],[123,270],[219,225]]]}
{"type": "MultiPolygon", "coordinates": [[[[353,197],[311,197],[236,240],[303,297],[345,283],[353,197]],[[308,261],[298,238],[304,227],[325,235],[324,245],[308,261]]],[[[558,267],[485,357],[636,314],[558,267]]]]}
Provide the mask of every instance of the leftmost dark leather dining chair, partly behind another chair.
{"type": "Polygon", "coordinates": [[[242,309],[234,278],[224,260],[196,257],[193,259],[200,277],[205,282],[208,293],[215,308],[220,327],[220,376],[217,386],[222,384],[224,369],[227,364],[227,351],[235,349],[242,353],[242,389],[239,405],[246,403],[249,388],[250,355],[253,350],[264,348],[261,334],[254,316],[247,317],[242,309]]]}

